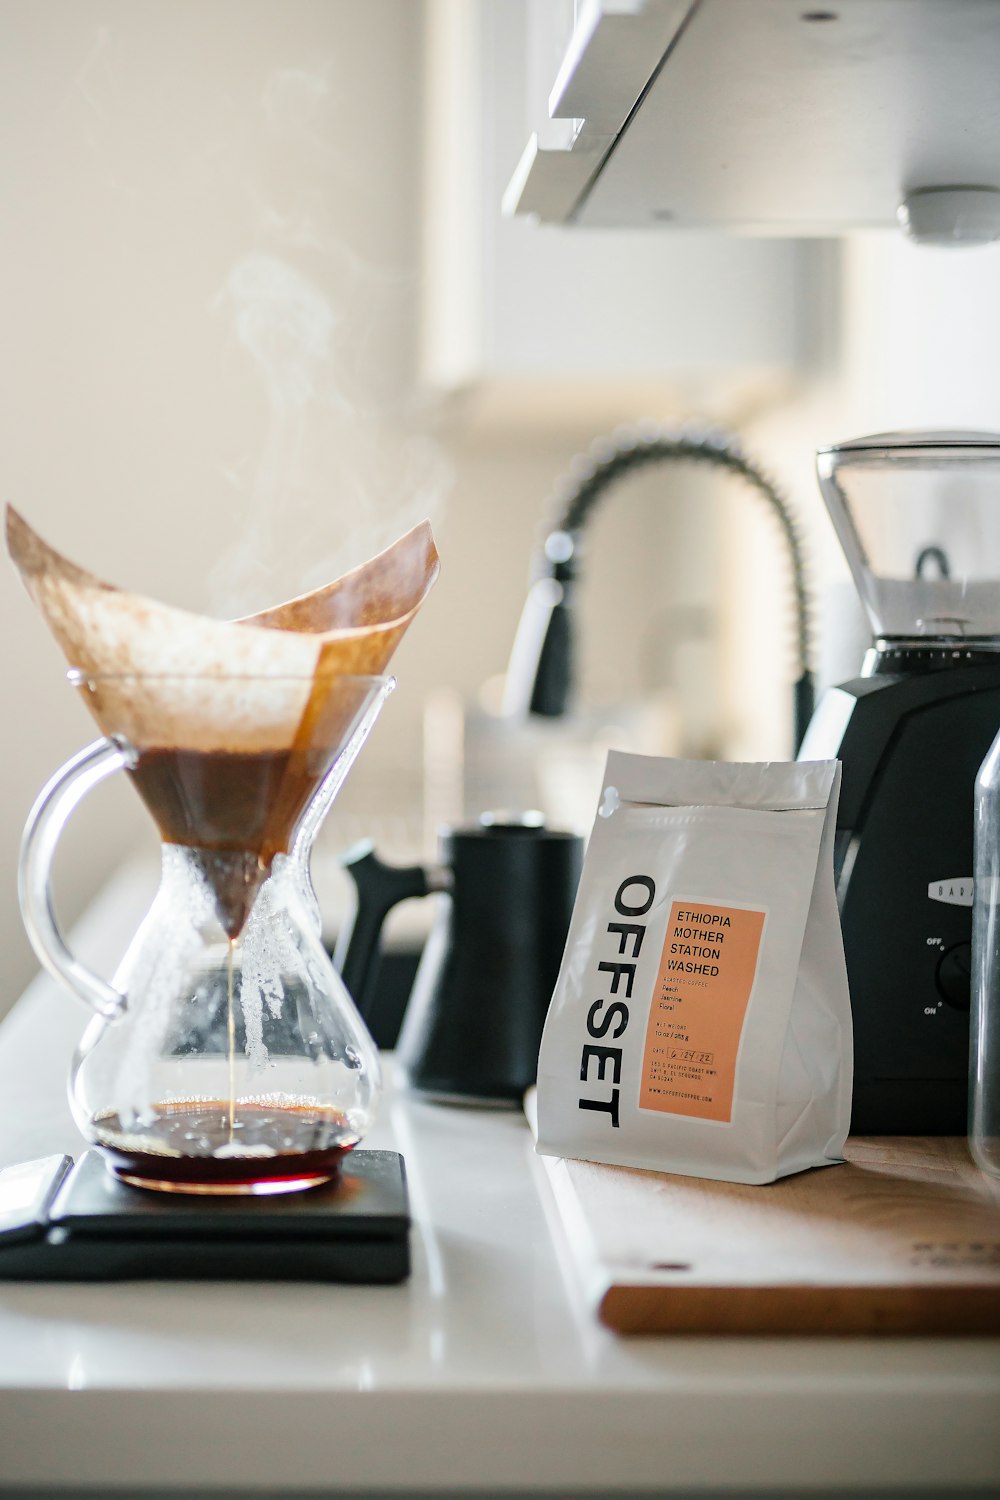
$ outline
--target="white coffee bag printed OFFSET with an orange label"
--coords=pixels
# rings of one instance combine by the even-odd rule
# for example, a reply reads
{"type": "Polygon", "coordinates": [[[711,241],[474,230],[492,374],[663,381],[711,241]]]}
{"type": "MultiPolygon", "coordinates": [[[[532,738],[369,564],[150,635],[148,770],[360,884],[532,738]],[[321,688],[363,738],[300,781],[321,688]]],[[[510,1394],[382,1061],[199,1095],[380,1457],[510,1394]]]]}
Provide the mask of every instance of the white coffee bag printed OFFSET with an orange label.
{"type": "Polygon", "coordinates": [[[612,752],[538,1056],[546,1155],[772,1182],[841,1160],[835,760],[612,752]]]}

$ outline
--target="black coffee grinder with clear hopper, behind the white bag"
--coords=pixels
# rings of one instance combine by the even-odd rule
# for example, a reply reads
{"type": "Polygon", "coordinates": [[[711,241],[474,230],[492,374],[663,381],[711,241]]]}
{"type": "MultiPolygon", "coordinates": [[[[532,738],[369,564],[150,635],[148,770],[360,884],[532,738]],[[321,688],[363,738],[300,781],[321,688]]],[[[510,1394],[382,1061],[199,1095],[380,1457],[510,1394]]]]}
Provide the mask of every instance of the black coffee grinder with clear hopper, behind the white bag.
{"type": "Polygon", "coordinates": [[[844,766],[852,1130],[964,1134],[973,786],[1000,728],[1000,435],[879,434],[822,448],[817,471],[874,634],[799,750],[844,766]]]}

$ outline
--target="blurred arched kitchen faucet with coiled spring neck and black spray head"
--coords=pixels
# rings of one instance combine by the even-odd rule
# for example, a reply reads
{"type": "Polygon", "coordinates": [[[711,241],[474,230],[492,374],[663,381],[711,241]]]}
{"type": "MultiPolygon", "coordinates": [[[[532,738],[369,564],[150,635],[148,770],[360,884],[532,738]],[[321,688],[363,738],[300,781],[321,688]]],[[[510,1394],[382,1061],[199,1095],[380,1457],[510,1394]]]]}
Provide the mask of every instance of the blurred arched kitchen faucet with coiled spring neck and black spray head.
{"type": "Polygon", "coordinates": [[[795,682],[795,744],[801,744],[813,717],[810,670],[810,600],[799,528],[775,483],[726,434],[672,432],[666,428],[625,430],[600,438],[577,459],[558,486],[555,522],[535,560],[535,582],[528,591],[511,650],[504,692],[504,712],[559,718],[573,687],[573,591],[577,580],[582,536],[601,495],[618,480],[655,464],[705,464],[726,470],[751,484],[781,526],[792,562],[796,609],[799,678],[795,682]]]}

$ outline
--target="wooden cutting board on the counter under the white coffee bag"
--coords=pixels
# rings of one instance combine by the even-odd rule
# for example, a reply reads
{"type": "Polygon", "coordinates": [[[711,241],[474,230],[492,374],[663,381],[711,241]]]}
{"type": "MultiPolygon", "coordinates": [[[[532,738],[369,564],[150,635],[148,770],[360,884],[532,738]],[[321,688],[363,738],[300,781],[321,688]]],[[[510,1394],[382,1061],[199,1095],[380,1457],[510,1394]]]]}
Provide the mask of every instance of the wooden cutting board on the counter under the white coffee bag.
{"type": "Polygon", "coordinates": [[[540,1156],[622,1334],[999,1334],[1000,1184],[964,1140],[871,1137],[766,1186],[540,1156]]]}

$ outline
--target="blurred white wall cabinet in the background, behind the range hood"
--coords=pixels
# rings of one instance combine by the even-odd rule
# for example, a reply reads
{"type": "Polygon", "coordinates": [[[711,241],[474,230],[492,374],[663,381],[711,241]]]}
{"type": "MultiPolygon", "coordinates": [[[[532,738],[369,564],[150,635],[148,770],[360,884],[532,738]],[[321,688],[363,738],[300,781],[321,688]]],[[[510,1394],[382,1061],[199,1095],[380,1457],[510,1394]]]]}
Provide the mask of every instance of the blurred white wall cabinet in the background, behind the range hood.
{"type": "MultiPolygon", "coordinates": [[[[831,256],[792,240],[504,216],[571,22],[556,0],[532,14],[523,0],[429,0],[423,381],[522,423],[738,420],[808,363],[831,256]],[[532,15],[547,22],[541,39],[532,15]]],[[[574,124],[549,122],[546,142],[568,146],[574,124]]]]}

